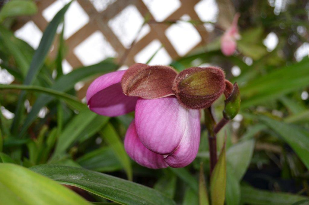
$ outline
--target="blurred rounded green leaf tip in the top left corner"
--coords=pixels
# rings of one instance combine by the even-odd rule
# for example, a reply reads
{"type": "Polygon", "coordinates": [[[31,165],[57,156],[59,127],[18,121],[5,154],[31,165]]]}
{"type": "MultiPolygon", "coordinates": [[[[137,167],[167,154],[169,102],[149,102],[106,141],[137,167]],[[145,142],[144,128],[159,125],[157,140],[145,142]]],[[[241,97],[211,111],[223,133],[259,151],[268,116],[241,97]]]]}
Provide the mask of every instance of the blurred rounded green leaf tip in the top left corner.
{"type": "Polygon", "coordinates": [[[0,22],[7,17],[34,15],[36,4],[29,0],[12,0],[4,4],[0,11],[0,22]]]}

